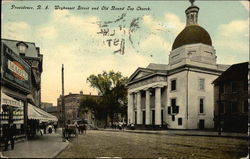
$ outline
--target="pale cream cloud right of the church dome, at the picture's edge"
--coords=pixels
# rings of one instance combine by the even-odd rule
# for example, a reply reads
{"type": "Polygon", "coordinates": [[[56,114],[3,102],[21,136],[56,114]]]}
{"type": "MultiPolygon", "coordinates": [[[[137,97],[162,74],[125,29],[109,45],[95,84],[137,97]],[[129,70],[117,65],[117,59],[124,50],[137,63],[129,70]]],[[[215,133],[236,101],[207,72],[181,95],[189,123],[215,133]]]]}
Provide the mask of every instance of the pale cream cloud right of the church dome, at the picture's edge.
{"type": "Polygon", "coordinates": [[[249,18],[219,25],[213,41],[220,54],[219,63],[232,64],[246,61],[249,58],[249,18]]]}

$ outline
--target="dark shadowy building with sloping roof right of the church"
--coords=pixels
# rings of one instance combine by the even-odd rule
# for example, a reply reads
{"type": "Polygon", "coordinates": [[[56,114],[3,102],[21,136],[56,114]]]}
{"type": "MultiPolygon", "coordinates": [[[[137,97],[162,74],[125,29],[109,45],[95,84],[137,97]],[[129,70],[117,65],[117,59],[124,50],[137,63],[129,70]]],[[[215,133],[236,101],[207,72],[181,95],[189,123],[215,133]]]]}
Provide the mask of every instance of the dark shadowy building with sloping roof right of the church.
{"type": "Polygon", "coordinates": [[[214,80],[215,128],[247,132],[248,62],[234,64],[214,80]]]}

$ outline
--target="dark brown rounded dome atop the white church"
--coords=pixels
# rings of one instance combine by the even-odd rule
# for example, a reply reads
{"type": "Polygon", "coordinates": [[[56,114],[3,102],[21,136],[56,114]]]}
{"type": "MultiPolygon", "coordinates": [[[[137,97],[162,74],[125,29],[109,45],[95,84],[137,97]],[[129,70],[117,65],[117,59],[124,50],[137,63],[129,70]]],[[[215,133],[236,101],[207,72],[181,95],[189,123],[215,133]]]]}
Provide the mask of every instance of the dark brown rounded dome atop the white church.
{"type": "Polygon", "coordinates": [[[175,38],[172,50],[187,44],[207,44],[212,46],[209,33],[199,25],[186,26],[175,38]]]}

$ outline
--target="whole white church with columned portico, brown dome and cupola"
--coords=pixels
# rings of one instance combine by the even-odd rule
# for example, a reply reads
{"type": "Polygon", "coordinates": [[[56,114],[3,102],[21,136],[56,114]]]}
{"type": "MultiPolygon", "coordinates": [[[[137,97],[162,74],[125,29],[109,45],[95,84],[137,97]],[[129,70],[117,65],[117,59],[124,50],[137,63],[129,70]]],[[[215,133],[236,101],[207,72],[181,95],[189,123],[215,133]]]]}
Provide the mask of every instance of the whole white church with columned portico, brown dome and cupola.
{"type": "Polygon", "coordinates": [[[168,64],[150,63],[129,78],[128,124],[136,127],[214,127],[212,82],[229,66],[217,64],[209,33],[198,24],[199,8],[185,11],[186,27],[176,37],[168,64]]]}

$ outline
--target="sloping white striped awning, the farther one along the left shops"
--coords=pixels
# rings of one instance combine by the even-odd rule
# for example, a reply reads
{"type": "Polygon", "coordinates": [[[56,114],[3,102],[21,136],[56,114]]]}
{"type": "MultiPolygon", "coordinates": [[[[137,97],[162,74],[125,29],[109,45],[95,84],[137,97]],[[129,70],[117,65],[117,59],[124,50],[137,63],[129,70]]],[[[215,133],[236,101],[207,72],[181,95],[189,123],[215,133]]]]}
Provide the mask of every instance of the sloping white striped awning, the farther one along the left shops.
{"type": "Polygon", "coordinates": [[[57,117],[54,115],[51,115],[30,103],[28,103],[28,119],[37,119],[41,122],[58,121],[57,117]]]}

